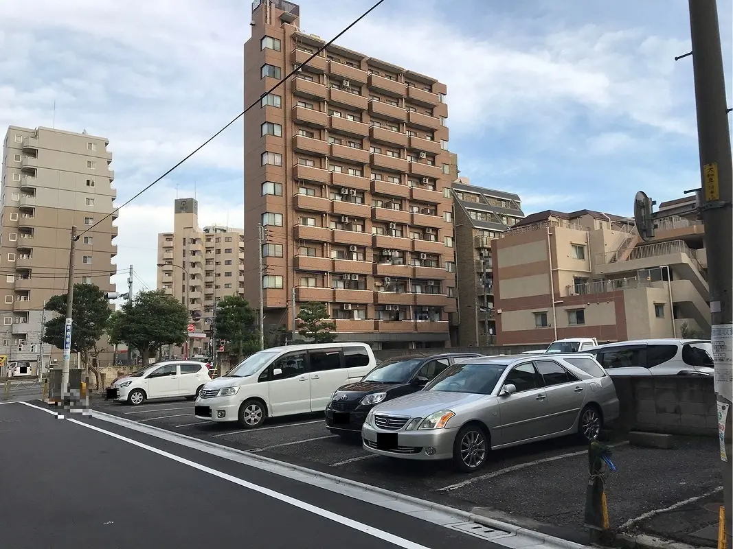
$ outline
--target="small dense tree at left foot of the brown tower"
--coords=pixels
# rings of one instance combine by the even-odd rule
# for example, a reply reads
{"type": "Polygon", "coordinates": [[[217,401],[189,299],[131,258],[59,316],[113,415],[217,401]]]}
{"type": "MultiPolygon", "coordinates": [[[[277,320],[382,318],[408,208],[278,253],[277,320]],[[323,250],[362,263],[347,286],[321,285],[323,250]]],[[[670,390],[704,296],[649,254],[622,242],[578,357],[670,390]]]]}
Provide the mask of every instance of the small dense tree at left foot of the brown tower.
{"type": "Polygon", "coordinates": [[[226,296],[216,305],[214,330],[216,337],[226,340],[224,350],[239,362],[259,351],[259,330],[249,302],[239,296],[226,296]]]}

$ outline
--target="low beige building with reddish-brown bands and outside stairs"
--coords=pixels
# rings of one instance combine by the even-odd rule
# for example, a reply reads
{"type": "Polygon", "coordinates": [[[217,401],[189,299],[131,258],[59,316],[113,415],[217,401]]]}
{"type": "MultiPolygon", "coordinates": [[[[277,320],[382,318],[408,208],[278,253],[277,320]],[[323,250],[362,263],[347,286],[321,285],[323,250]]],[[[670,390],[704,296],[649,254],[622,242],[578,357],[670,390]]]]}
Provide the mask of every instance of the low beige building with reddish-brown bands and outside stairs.
{"type": "Polygon", "coordinates": [[[709,337],[703,236],[682,217],[645,243],[633,220],[603,212],[527,216],[492,242],[498,343],[709,337]]]}

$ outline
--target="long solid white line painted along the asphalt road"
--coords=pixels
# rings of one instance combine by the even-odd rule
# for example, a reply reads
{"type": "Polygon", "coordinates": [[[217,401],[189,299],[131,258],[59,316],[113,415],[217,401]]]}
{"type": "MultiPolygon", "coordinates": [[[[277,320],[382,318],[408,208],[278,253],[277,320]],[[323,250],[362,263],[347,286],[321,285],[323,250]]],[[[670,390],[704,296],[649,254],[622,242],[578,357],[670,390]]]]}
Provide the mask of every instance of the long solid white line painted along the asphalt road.
{"type": "MultiPolygon", "coordinates": [[[[37,406],[33,406],[32,404],[29,404],[28,406],[31,406],[32,408],[38,408],[37,406]]],[[[38,409],[43,410],[43,408],[38,408],[38,409]]],[[[54,414],[54,412],[50,410],[44,410],[44,411],[48,411],[49,414],[54,414]]],[[[89,425],[89,423],[80,422],[76,419],[70,418],[70,419],[67,419],[67,421],[75,423],[76,425],[81,425],[81,427],[86,427],[87,429],[95,430],[97,431],[97,433],[103,433],[107,436],[111,436],[112,438],[117,438],[117,440],[125,441],[128,444],[132,444],[133,446],[136,446],[142,449],[146,449],[149,452],[163,456],[163,458],[169,458],[170,460],[177,461],[178,463],[182,463],[185,466],[189,466],[191,468],[198,469],[199,471],[213,475],[214,477],[218,477],[220,479],[232,482],[232,484],[239,485],[242,488],[247,488],[248,490],[252,490],[254,492],[261,493],[263,496],[268,496],[270,498],[281,501],[284,504],[292,505],[293,507],[298,507],[298,509],[303,509],[303,511],[310,512],[314,515],[318,515],[327,520],[332,520],[335,523],[339,523],[339,524],[342,524],[343,526],[347,526],[347,528],[354,529],[356,531],[361,531],[364,534],[375,537],[377,539],[383,539],[384,541],[391,543],[392,545],[397,545],[397,547],[401,547],[403,549],[429,549],[425,545],[420,545],[419,543],[412,542],[409,539],[405,539],[403,537],[399,537],[394,534],[390,534],[389,532],[380,530],[378,528],[375,528],[374,526],[369,526],[368,524],[360,523],[357,520],[347,518],[343,515],[339,515],[337,513],[328,511],[327,509],[321,509],[320,507],[306,503],[306,501],[303,501],[301,499],[293,498],[291,496],[286,496],[283,493],[276,492],[276,490],[271,490],[270,488],[265,488],[264,486],[256,485],[253,482],[248,482],[246,480],[237,478],[231,474],[224,473],[223,471],[217,471],[216,469],[207,467],[205,465],[202,465],[201,463],[196,463],[195,461],[181,458],[180,456],[171,454],[169,452],[165,452],[164,450],[161,450],[161,449],[158,449],[152,446],[148,446],[147,444],[143,444],[142,442],[135,441],[132,438],[127,438],[126,436],[118,435],[117,433],[111,433],[110,431],[100,429],[100,427],[97,427],[95,425],[89,425]]]]}

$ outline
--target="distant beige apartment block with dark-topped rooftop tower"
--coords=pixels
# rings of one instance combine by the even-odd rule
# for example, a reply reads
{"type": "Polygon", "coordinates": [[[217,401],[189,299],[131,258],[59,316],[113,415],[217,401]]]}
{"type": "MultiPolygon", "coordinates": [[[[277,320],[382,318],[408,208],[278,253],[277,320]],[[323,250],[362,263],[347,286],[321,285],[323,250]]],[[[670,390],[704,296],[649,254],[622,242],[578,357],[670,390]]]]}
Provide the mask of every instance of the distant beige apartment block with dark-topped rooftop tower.
{"type": "MultiPolygon", "coordinates": [[[[211,327],[216,302],[224,296],[244,296],[244,237],[240,228],[210,225],[199,228],[199,203],[177,198],[172,233],[158,234],[158,290],[188,303],[188,356],[210,356],[211,327]]],[[[255,304],[253,303],[253,307],[255,304]]],[[[185,348],[164,349],[183,356],[185,348]]]]}

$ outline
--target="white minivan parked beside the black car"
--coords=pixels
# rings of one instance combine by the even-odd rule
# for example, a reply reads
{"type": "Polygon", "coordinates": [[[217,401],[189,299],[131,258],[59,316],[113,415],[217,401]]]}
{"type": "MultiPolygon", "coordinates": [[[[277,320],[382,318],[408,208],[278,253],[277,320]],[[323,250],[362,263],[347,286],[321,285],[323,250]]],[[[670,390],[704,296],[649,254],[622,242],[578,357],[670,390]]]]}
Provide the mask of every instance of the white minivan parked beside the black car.
{"type": "Polygon", "coordinates": [[[207,383],[196,398],[195,414],[252,428],[268,417],[324,411],[336,389],[359,381],[376,365],[364,343],[265,349],[207,383]]]}

